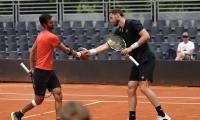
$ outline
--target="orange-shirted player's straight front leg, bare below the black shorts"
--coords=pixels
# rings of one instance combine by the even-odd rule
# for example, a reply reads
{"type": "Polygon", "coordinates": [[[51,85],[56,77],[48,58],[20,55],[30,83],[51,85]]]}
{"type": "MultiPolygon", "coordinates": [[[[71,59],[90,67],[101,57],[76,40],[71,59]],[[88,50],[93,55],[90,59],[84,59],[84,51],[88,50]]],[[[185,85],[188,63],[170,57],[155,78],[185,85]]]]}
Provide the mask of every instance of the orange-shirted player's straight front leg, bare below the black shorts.
{"type": "Polygon", "coordinates": [[[62,92],[61,88],[54,88],[51,93],[54,96],[55,99],[55,110],[56,110],[56,118],[60,118],[60,113],[62,109],[62,92]]]}

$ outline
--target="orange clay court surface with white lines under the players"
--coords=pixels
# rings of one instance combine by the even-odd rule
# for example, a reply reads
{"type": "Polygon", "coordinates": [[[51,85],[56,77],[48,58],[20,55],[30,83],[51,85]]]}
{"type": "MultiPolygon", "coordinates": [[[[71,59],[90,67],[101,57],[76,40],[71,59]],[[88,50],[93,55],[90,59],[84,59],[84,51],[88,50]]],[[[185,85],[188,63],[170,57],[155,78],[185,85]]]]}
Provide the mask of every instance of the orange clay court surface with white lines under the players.
{"type": "MultiPolygon", "coordinates": [[[[92,120],[127,120],[126,86],[95,84],[62,84],[63,102],[80,101],[90,111],[92,120]]],[[[151,87],[165,111],[173,120],[200,119],[200,88],[151,87]]],[[[9,120],[12,111],[19,110],[33,98],[30,83],[0,84],[0,120],[9,120]]],[[[155,120],[156,111],[138,90],[138,120],[155,120]]],[[[54,100],[51,96],[28,112],[24,120],[55,120],[54,100]]]]}

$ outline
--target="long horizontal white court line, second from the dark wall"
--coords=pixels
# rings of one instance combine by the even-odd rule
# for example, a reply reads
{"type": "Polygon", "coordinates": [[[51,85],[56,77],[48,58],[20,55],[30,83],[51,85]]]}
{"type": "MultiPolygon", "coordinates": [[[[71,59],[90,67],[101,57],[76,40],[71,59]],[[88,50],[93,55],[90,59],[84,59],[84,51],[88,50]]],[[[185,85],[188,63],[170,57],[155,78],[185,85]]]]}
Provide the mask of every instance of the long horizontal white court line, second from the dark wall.
{"type": "MultiPolygon", "coordinates": [[[[30,101],[32,99],[10,99],[10,98],[0,98],[0,100],[6,100],[6,101],[30,101]]],[[[45,101],[47,102],[54,102],[54,100],[50,100],[50,99],[46,99],[45,101]]],[[[104,102],[104,103],[127,103],[128,101],[117,101],[117,100],[63,100],[63,101],[83,101],[83,102],[93,102],[93,101],[98,101],[98,102],[104,102]]],[[[150,104],[150,102],[138,102],[138,103],[141,103],[141,104],[150,104]]],[[[162,104],[175,104],[175,105],[200,105],[200,102],[160,102],[162,104]]]]}

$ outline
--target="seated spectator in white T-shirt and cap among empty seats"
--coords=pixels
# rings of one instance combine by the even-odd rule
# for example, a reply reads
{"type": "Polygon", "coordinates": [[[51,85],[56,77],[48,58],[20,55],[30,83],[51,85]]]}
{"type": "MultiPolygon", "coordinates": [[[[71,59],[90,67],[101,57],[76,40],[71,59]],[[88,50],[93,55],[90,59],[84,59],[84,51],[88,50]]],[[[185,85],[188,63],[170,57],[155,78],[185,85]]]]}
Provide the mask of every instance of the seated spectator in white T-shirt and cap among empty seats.
{"type": "Polygon", "coordinates": [[[194,52],[194,43],[190,41],[188,32],[184,32],[182,34],[183,42],[179,43],[177,48],[177,56],[176,61],[182,60],[194,60],[193,52],[194,52]]]}

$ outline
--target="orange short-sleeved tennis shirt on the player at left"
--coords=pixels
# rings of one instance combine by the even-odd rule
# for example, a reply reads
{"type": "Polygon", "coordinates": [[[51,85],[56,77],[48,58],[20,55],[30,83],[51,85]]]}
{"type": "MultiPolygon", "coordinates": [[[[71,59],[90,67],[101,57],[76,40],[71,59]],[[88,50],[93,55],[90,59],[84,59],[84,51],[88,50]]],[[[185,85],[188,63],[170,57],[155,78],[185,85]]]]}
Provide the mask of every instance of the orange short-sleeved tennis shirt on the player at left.
{"type": "Polygon", "coordinates": [[[59,38],[49,31],[42,31],[36,38],[36,68],[53,70],[53,49],[60,43],[59,38]]]}

